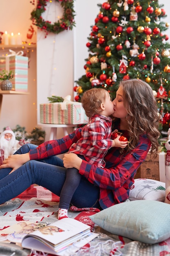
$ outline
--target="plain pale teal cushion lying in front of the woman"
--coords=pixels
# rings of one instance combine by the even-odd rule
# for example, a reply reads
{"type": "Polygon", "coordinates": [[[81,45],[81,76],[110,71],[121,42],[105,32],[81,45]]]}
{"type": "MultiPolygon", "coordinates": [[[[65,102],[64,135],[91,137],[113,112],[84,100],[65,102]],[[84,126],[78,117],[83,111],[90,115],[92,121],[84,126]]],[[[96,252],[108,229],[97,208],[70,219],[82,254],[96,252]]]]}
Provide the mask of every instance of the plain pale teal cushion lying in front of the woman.
{"type": "Polygon", "coordinates": [[[170,204],[164,202],[123,202],[89,218],[112,234],[142,243],[155,244],[170,237],[170,204]]]}

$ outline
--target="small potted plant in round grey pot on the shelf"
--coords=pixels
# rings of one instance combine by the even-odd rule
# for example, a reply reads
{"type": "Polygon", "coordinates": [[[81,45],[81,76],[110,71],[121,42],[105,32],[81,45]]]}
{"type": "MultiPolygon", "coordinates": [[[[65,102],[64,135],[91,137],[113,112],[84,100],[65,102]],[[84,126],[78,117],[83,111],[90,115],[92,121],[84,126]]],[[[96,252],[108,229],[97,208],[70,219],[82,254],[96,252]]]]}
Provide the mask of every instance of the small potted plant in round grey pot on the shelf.
{"type": "Polygon", "coordinates": [[[11,90],[12,89],[12,83],[9,81],[9,79],[13,78],[13,72],[2,70],[2,73],[0,73],[0,80],[2,82],[0,83],[1,90],[11,90]]]}

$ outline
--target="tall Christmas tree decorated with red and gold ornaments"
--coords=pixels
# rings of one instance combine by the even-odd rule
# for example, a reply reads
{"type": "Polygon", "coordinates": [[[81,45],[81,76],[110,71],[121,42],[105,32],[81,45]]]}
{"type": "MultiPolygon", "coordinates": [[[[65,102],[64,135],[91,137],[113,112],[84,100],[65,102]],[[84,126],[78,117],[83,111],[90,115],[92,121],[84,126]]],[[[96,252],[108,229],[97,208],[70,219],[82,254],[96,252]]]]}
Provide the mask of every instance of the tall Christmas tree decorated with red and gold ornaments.
{"type": "Polygon", "coordinates": [[[158,0],[108,0],[98,4],[86,46],[84,75],[76,81],[75,101],[84,91],[105,88],[114,99],[121,79],[142,79],[153,90],[160,130],[170,124],[170,44],[163,22],[166,11],[158,0]]]}

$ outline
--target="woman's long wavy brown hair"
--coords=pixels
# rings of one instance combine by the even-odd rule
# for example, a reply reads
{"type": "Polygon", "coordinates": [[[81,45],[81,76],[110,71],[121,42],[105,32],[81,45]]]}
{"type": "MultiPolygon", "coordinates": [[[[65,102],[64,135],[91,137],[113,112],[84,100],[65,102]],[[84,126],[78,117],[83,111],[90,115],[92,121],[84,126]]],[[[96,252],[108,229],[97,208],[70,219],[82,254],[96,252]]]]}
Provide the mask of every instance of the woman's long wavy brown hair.
{"type": "Polygon", "coordinates": [[[152,88],[148,83],[139,79],[122,80],[119,86],[123,88],[124,92],[126,120],[129,124],[128,134],[131,138],[128,150],[135,148],[140,135],[146,133],[151,141],[151,157],[155,159],[158,153],[160,132],[157,102],[152,88]]]}

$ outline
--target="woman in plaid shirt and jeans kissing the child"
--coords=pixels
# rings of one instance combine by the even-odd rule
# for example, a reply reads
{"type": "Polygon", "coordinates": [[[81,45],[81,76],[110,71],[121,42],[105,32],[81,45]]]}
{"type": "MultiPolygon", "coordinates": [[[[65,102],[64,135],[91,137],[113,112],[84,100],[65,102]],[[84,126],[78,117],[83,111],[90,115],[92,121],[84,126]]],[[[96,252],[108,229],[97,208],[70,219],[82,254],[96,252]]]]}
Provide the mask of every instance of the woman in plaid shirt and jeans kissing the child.
{"type": "Polygon", "coordinates": [[[151,148],[153,158],[157,156],[159,118],[152,88],[138,79],[120,82],[113,105],[113,130],[118,129],[130,141],[125,150],[110,148],[104,157],[106,166],[99,168],[74,153],[65,154],[63,161],[55,156],[68,151],[81,137],[81,128],[38,147],[25,144],[0,166],[0,204],[34,183],[60,196],[66,168],[73,167],[79,170],[82,179],[71,204],[105,209],[124,202],[148,150],[151,148]]]}

